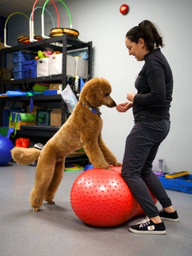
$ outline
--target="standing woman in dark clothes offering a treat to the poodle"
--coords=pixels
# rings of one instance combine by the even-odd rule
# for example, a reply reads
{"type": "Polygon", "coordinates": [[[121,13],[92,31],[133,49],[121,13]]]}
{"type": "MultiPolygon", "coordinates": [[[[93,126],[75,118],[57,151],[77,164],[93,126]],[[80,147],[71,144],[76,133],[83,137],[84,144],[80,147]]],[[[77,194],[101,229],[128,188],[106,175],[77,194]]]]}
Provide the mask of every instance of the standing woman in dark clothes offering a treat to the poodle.
{"type": "Polygon", "coordinates": [[[137,225],[131,225],[129,231],[165,234],[162,220],[178,221],[178,215],[151,169],[159,145],[170,129],[173,76],[159,48],[164,46],[162,37],[151,21],[142,21],[130,29],[125,44],[129,55],[138,61],[144,60],[144,66],[135,82],[137,94],[128,93],[128,102],[117,105],[117,111],[126,112],[132,107],[134,114],[134,127],[124,150],[122,177],[148,217],[137,225]],[[162,210],[156,208],[149,190],[161,203],[162,210]]]}

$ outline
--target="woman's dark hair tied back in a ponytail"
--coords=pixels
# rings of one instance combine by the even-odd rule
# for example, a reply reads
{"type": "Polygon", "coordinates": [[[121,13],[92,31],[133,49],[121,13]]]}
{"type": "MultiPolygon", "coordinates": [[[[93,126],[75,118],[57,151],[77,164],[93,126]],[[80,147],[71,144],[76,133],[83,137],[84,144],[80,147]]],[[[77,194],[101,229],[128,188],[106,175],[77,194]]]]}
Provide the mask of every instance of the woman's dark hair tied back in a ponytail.
{"type": "Polygon", "coordinates": [[[159,46],[164,47],[163,38],[159,35],[159,32],[151,21],[144,20],[139,23],[139,26],[131,28],[127,32],[126,37],[134,43],[138,43],[139,38],[143,38],[147,50],[150,51],[159,46]]]}

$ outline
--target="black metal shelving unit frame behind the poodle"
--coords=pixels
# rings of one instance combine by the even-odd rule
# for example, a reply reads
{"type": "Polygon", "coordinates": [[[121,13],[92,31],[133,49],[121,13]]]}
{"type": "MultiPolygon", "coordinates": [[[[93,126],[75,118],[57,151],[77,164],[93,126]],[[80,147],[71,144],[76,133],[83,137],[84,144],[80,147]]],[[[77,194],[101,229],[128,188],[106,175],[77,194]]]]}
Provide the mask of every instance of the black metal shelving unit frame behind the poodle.
{"type": "MultiPolygon", "coordinates": [[[[68,51],[70,50],[81,50],[86,48],[88,53],[88,79],[92,77],[92,41],[90,42],[82,42],[78,39],[75,39],[71,36],[64,34],[63,36],[55,36],[53,38],[43,39],[41,41],[36,41],[33,43],[13,46],[11,48],[5,48],[0,51],[1,56],[1,72],[6,67],[4,63],[6,63],[6,58],[8,54],[14,53],[16,51],[23,51],[28,53],[37,53],[38,50],[45,50],[45,48],[53,48],[53,50],[60,50],[63,53],[63,68],[62,74],[60,75],[50,75],[41,78],[28,78],[28,79],[18,79],[18,80],[4,80],[3,75],[1,75],[1,87],[0,93],[5,93],[5,87],[8,85],[18,86],[21,84],[28,84],[31,85],[35,82],[59,82],[62,84],[63,89],[66,86],[67,75],[66,75],[66,56],[68,51]]],[[[21,96],[21,97],[0,97],[0,126],[3,125],[3,109],[4,109],[4,102],[6,100],[12,102],[29,102],[31,97],[28,96],[21,96]]],[[[33,95],[33,102],[38,105],[38,102],[50,102],[60,105],[62,110],[62,124],[68,118],[67,115],[67,107],[63,102],[63,99],[60,95],[33,95]]],[[[18,135],[30,135],[38,137],[52,137],[59,127],[46,127],[46,129],[41,130],[41,127],[36,127],[34,129],[21,129],[17,131],[18,135]],[[39,128],[39,129],[38,129],[39,128]]]]}

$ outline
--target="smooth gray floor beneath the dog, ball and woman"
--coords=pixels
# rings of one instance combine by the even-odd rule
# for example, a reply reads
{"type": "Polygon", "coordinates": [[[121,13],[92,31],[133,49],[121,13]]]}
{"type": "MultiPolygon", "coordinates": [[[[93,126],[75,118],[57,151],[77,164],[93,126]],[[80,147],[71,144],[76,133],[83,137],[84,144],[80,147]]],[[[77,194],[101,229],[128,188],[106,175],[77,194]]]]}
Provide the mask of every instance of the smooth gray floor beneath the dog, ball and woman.
{"type": "MultiPolygon", "coordinates": [[[[82,171],[66,171],[55,206],[43,205],[34,213],[28,195],[35,167],[9,164],[0,167],[1,256],[191,256],[192,195],[167,191],[179,213],[179,222],[166,222],[166,235],[128,232],[130,220],[116,228],[91,228],[70,206],[70,188],[82,171]]],[[[158,205],[159,206],[159,205],[158,205]]]]}

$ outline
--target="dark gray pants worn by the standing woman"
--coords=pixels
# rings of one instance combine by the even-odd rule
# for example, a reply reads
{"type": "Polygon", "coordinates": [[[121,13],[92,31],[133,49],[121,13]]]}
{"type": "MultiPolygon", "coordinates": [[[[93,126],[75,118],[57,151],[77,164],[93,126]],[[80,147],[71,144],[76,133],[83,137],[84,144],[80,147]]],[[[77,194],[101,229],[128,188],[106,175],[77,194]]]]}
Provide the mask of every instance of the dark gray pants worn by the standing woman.
{"type": "Polygon", "coordinates": [[[149,218],[159,215],[149,190],[163,208],[172,205],[161,181],[151,171],[156,152],[169,129],[168,119],[139,121],[134,124],[126,141],[122,177],[149,218]]]}

